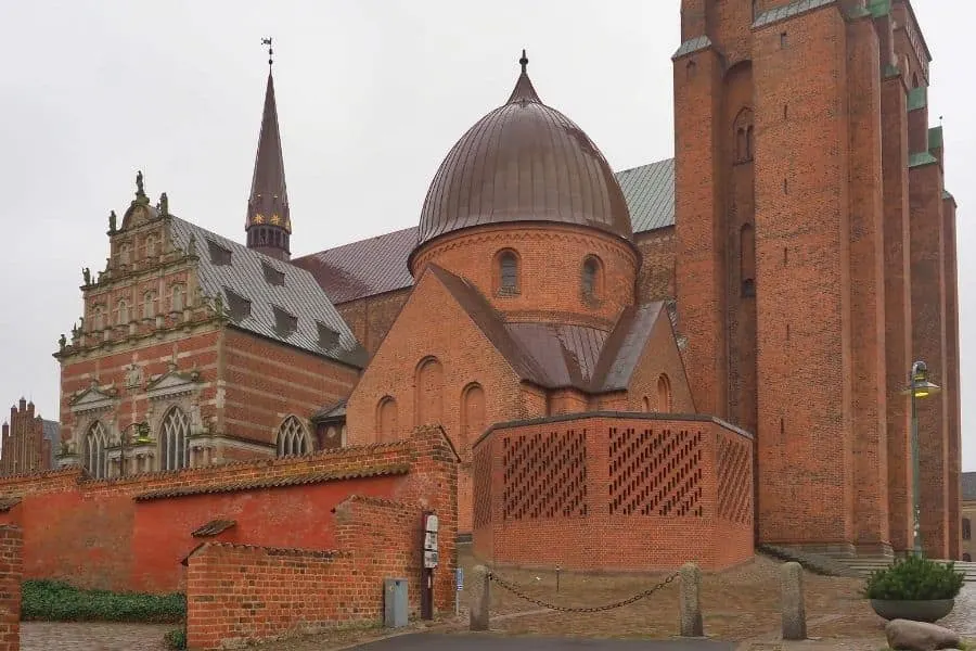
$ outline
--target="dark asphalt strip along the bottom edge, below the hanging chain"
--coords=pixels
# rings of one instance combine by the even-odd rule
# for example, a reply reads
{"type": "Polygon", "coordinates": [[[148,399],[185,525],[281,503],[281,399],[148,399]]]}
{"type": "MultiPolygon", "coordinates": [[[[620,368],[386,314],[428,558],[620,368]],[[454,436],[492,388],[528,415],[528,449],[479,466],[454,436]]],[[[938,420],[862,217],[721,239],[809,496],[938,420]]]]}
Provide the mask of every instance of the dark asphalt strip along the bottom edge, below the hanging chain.
{"type": "Polygon", "coordinates": [[[731,642],[711,640],[587,640],[492,635],[437,635],[418,633],[369,642],[357,651],[727,651],[731,642]]]}

